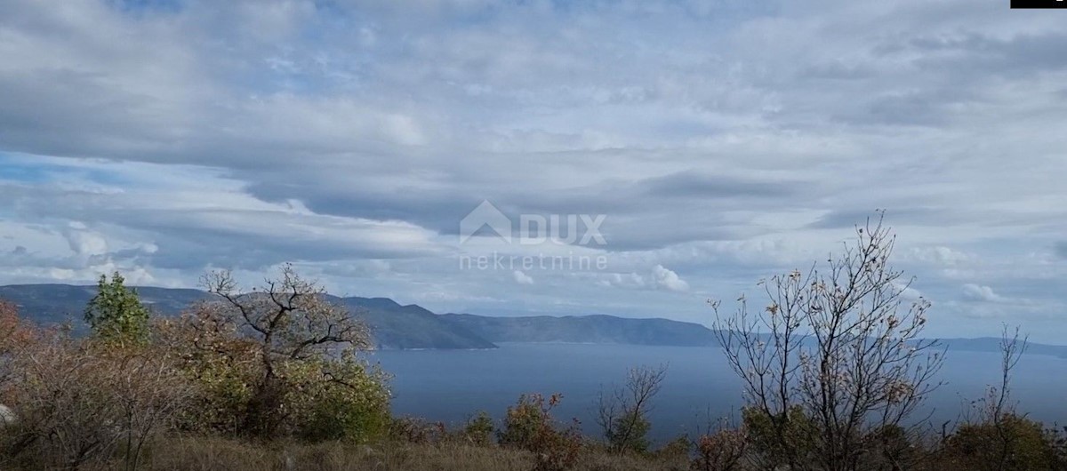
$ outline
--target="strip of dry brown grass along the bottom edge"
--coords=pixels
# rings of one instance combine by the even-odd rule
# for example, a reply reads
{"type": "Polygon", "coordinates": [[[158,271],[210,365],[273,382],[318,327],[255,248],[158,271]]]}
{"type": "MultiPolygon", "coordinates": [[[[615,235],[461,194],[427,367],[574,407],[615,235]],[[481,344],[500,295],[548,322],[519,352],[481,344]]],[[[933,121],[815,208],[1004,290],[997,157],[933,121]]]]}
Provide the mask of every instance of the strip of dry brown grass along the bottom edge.
{"type": "MultiPolygon", "coordinates": [[[[529,471],[529,452],[466,443],[343,442],[252,444],[220,438],[172,438],[155,443],[147,471],[529,471]]],[[[120,469],[120,468],[113,468],[120,469]]],[[[575,471],[675,471],[688,462],[585,451],[575,471]]]]}

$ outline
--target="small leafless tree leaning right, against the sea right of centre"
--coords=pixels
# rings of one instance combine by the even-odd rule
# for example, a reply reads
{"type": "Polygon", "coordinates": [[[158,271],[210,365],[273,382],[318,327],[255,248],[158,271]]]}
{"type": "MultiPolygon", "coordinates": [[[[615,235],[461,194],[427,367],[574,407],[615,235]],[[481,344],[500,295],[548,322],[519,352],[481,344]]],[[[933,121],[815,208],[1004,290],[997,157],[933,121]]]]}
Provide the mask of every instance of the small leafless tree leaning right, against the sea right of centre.
{"type": "Polygon", "coordinates": [[[626,375],[625,385],[610,392],[601,390],[596,402],[596,424],[614,451],[643,452],[648,449],[648,413],[666,376],[666,364],[633,368],[626,375]]]}

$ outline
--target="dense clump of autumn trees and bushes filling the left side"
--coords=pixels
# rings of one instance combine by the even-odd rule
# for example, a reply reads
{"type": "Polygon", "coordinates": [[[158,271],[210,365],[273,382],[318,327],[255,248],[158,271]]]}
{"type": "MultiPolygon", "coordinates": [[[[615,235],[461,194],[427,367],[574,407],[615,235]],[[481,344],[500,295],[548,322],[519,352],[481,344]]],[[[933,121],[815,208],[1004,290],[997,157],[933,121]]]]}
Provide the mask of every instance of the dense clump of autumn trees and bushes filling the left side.
{"type": "Polygon", "coordinates": [[[357,356],[365,326],[288,267],[265,291],[212,279],[216,299],[149,322],[121,275],[101,278],[84,338],[0,303],[0,469],[133,470],[176,434],[384,435],[387,377],[357,356]]]}

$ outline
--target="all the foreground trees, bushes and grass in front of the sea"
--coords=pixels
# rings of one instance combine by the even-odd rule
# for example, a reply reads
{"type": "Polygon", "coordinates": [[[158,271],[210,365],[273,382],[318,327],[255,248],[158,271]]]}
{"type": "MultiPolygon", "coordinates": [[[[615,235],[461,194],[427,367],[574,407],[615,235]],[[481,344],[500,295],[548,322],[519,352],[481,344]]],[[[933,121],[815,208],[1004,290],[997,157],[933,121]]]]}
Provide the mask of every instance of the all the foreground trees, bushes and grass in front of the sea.
{"type": "Polygon", "coordinates": [[[951,429],[914,411],[938,384],[929,304],[904,299],[893,236],[857,228],[844,253],[761,281],[767,305],[717,314],[747,405],[736,426],[653,448],[648,420],[665,367],[640,367],[596,404],[601,438],[527,394],[503,420],[457,429],[388,412],[370,336],[290,267],[244,291],[152,319],[121,275],[101,277],[93,335],[42,328],[0,303],[0,468],[13,470],[1067,470],[1064,431],[1010,401],[1025,348],[1005,328],[1002,380],[951,429]],[[905,306],[902,309],[902,306],[905,306]]]}

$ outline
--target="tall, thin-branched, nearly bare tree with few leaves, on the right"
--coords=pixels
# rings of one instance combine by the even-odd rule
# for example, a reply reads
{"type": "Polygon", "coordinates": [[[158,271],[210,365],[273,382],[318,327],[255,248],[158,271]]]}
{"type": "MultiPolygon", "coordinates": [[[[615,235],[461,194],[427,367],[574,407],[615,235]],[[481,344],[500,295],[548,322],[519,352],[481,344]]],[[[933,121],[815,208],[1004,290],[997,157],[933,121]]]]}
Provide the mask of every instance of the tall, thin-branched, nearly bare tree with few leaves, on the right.
{"type": "Polygon", "coordinates": [[[864,459],[890,459],[872,437],[901,435],[904,419],[939,386],[931,378],[943,353],[920,338],[929,303],[919,297],[899,309],[911,280],[888,264],[895,237],[880,213],[856,234],[822,270],[760,281],[767,305],[758,312],[744,295],[733,315],[710,302],[748,418],[765,423],[777,460],[791,469],[857,470],[864,459]]]}

